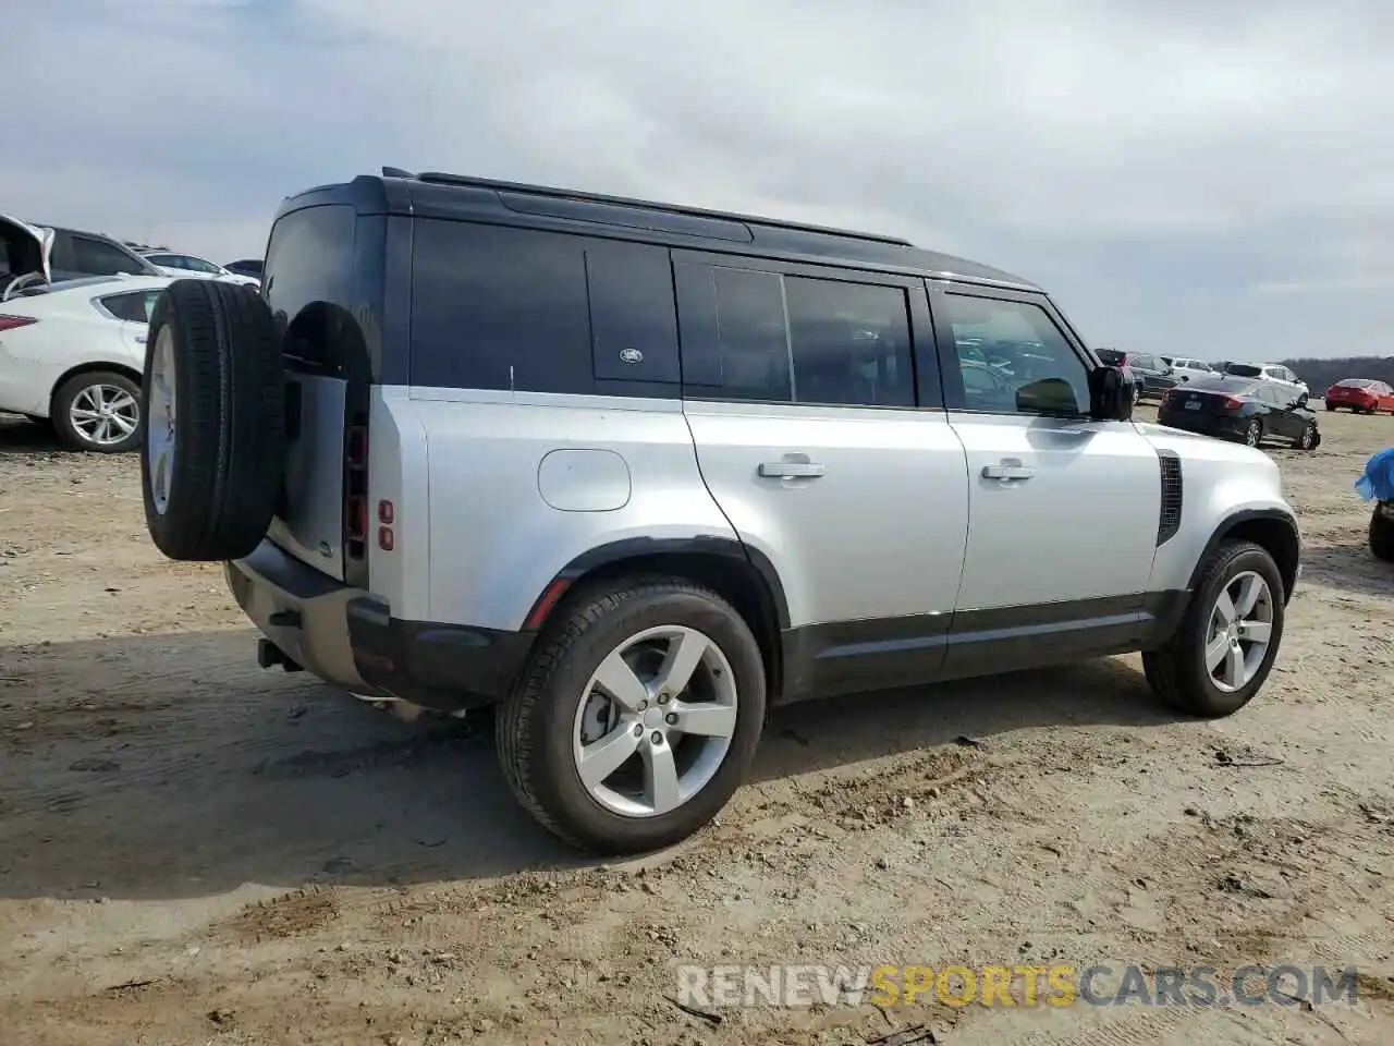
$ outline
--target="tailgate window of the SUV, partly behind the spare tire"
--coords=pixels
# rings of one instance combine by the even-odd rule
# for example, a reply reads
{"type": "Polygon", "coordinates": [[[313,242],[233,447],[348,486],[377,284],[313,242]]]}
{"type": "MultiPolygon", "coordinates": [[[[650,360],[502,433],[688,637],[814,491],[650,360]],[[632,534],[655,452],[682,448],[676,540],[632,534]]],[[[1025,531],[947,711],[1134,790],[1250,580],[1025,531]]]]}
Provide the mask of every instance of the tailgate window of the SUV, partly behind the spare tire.
{"type": "Polygon", "coordinates": [[[296,324],[286,340],[286,354],[315,365],[328,365],[333,331],[328,310],[316,304],[347,307],[353,291],[355,213],[347,204],[311,206],[283,215],[266,247],[263,293],[276,319],[296,324]]]}

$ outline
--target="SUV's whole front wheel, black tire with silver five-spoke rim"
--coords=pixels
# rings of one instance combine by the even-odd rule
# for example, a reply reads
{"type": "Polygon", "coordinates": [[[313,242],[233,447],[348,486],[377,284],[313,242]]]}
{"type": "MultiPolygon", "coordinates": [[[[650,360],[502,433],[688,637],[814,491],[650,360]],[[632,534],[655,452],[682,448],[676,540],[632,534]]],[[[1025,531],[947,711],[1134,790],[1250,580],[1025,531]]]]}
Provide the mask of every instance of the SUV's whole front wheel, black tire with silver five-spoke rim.
{"type": "Polygon", "coordinates": [[[1217,718],[1248,704],[1282,640],[1282,576],[1252,541],[1224,541],[1200,573],[1181,626],[1143,654],[1153,692],[1171,707],[1217,718]]]}

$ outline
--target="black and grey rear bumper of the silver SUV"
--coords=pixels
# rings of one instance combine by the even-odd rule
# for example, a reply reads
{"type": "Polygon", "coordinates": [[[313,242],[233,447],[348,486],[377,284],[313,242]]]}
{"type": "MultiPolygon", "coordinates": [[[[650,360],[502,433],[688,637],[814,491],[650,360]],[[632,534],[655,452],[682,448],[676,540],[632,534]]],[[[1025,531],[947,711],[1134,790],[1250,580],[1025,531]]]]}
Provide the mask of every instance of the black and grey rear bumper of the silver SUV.
{"type": "Polygon", "coordinates": [[[227,587],[282,654],[335,686],[454,711],[507,696],[528,632],[393,618],[386,602],[262,541],[224,563],[227,587]]]}

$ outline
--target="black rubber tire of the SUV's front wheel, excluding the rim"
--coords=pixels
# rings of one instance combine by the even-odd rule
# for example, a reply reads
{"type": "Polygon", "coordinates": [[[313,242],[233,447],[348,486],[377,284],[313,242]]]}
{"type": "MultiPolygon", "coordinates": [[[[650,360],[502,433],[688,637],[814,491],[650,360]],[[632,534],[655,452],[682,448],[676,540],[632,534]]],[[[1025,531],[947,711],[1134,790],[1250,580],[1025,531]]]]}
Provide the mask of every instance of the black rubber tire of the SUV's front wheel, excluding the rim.
{"type": "MultiPolygon", "coordinates": [[[[1242,583],[1238,587],[1242,589],[1242,583]]],[[[1273,671],[1278,644],[1282,640],[1285,609],[1282,600],[1282,576],[1267,549],[1252,541],[1221,543],[1200,572],[1200,583],[1196,586],[1177,633],[1161,650],[1147,651],[1142,655],[1143,671],[1153,692],[1172,708],[1203,718],[1231,715],[1242,708],[1253,699],[1269,678],[1269,672],[1273,671]],[[1262,612],[1256,607],[1253,623],[1263,623],[1257,619],[1266,614],[1269,632],[1264,640],[1266,646],[1257,651],[1257,643],[1245,637],[1246,629],[1236,630],[1236,637],[1249,643],[1248,647],[1241,643],[1241,653],[1245,661],[1243,671],[1252,669],[1252,675],[1243,679],[1242,685],[1224,689],[1217,685],[1213,674],[1216,669],[1211,669],[1209,664],[1207,651],[1223,650],[1227,646],[1221,643],[1223,635],[1213,635],[1216,608],[1221,596],[1235,587],[1241,577],[1262,579],[1267,597],[1266,600],[1260,597],[1262,612]],[[1257,653],[1250,665],[1248,655],[1255,651],[1257,653]]],[[[1235,605],[1232,596],[1231,605],[1235,605]]],[[[1249,628],[1253,628],[1253,623],[1249,628]]],[[[1220,671],[1223,672],[1224,668],[1225,662],[1221,660],[1220,671]]]]}

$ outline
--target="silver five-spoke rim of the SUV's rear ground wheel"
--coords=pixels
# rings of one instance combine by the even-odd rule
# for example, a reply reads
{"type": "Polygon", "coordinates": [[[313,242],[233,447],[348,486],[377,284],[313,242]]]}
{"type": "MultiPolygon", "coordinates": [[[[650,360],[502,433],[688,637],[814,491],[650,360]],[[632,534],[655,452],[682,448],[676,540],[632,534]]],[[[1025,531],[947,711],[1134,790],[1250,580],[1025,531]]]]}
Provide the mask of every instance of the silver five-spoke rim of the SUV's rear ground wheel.
{"type": "Polygon", "coordinates": [[[736,706],[736,676],[710,636],[682,625],[645,629],[616,646],[581,693],[576,773],[612,813],[676,810],[725,761],[736,706]]]}

